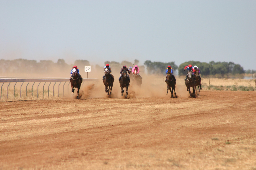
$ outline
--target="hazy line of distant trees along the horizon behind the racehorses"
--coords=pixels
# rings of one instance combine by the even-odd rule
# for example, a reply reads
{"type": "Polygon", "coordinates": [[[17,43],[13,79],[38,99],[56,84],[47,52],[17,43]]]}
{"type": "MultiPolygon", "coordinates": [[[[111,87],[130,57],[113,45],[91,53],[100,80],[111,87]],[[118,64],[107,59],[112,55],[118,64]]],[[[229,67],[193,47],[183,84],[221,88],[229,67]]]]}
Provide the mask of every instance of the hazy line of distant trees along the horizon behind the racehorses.
{"type": "MultiPolygon", "coordinates": [[[[116,61],[105,61],[105,64],[109,64],[113,69],[119,70],[123,65],[129,66],[138,65],[140,71],[144,71],[145,68],[148,74],[165,74],[165,70],[167,66],[171,66],[173,71],[178,71],[180,76],[186,75],[187,71],[183,71],[185,66],[191,64],[192,66],[196,65],[200,69],[201,75],[225,75],[225,74],[253,74],[256,73],[256,70],[244,70],[240,64],[235,64],[233,62],[214,62],[211,61],[209,63],[200,62],[200,61],[187,61],[181,63],[180,66],[177,66],[174,61],[171,62],[152,62],[151,60],[146,60],[144,64],[139,65],[139,60],[134,60],[134,62],[130,61],[122,61],[121,63],[116,61]]],[[[71,70],[71,68],[76,65],[78,68],[83,69],[84,66],[90,65],[88,60],[75,60],[73,64],[67,64],[65,60],[59,59],[56,63],[52,60],[40,60],[37,62],[36,60],[26,60],[26,59],[15,59],[15,60],[0,60],[0,73],[45,73],[54,68],[55,70],[71,70]]],[[[103,66],[96,65],[96,69],[103,69],[103,66]]]]}

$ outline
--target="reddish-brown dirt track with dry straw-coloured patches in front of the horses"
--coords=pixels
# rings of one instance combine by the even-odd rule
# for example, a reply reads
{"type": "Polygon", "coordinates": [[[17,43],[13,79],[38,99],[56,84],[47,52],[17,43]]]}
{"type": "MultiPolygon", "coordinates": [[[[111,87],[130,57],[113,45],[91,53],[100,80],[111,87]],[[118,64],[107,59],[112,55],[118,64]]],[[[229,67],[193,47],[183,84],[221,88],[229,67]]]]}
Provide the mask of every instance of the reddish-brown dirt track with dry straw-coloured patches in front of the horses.
{"type": "Polygon", "coordinates": [[[0,169],[256,169],[256,93],[0,103],[0,169]]]}

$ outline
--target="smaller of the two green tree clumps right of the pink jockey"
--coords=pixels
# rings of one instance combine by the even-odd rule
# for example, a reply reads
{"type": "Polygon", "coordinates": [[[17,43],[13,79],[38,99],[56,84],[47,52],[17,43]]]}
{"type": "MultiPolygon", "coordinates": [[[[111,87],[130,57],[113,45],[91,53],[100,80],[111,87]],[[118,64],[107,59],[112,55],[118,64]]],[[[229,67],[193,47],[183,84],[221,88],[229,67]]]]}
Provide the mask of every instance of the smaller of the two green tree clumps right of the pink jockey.
{"type": "Polygon", "coordinates": [[[172,70],[177,70],[178,66],[174,62],[162,63],[162,62],[151,62],[146,60],[144,65],[147,67],[149,74],[165,74],[165,70],[168,65],[172,67],[172,70]]]}

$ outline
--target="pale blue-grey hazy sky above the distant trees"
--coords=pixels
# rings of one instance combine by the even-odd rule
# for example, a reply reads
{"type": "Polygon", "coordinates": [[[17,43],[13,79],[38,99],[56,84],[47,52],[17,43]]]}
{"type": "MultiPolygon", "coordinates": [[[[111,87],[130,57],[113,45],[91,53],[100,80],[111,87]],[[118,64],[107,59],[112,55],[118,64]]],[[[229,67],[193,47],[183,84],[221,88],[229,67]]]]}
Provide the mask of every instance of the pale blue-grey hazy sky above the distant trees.
{"type": "Polygon", "coordinates": [[[256,64],[256,1],[0,1],[0,59],[256,64]]]}

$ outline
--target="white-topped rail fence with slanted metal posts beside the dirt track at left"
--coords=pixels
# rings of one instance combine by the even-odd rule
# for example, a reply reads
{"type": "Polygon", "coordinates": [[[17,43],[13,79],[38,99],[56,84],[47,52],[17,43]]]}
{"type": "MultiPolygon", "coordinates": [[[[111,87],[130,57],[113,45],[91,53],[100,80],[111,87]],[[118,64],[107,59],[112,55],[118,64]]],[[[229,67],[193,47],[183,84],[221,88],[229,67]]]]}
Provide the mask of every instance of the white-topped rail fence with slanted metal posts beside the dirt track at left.
{"type": "MultiPolygon", "coordinates": [[[[97,82],[97,81],[98,81],[98,79],[83,79],[82,85],[84,84],[84,82],[97,82]]],[[[69,89],[69,84],[70,84],[69,79],[0,79],[0,83],[2,83],[0,99],[2,100],[2,87],[3,87],[4,83],[9,83],[7,86],[7,99],[8,99],[9,98],[9,86],[11,83],[15,83],[13,86],[13,98],[15,98],[16,83],[22,83],[20,86],[20,98],[21,98],[21,88],[22,88],[23,83],[27,83],[26,96],[27,96],[28,84],[33,83],[32,88],[31,88],[31,95],[33,96],[33,86],[35,83],[39,83],[37,85],[37,98],[38,98],[38,87],[39,87],[40,83],[44,83],[44,85],[45,85],[45,83],[49,83],[49,85],[48,85],[48,97],[49,97],[49,88],[50,88],[51,83],[54,83],[54,85],[53,85],[53,96],[54,96],[54,90],[55,90],[54,87],[57,82],[60,82],[58,85],[58,97],[59,97],[59,86],[62,82],[64,82],[63,83],[63,96],[64,96],[64,86],[65,86],[66,82],[69,82],[67,85],[67,90],[69,89]]],[[[43,85],[43,98],[44,98],[44,85],[43,85]]]]}

